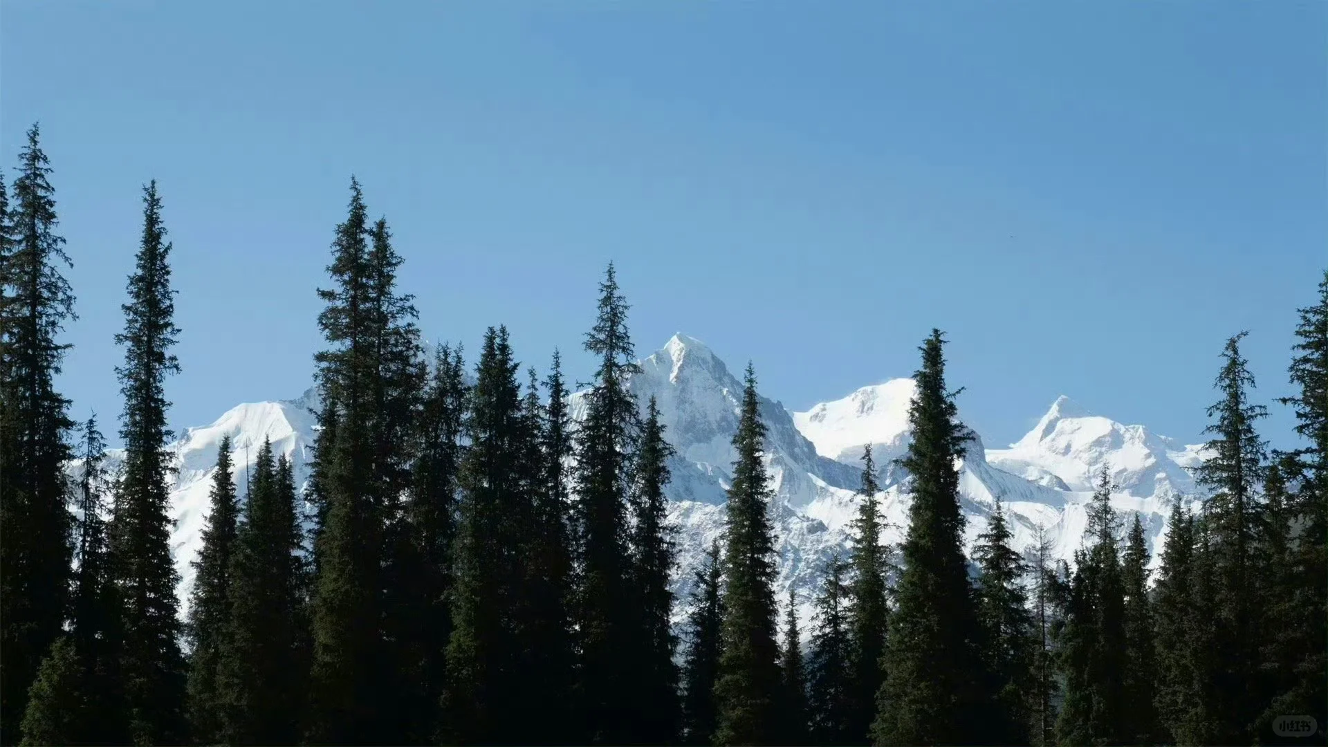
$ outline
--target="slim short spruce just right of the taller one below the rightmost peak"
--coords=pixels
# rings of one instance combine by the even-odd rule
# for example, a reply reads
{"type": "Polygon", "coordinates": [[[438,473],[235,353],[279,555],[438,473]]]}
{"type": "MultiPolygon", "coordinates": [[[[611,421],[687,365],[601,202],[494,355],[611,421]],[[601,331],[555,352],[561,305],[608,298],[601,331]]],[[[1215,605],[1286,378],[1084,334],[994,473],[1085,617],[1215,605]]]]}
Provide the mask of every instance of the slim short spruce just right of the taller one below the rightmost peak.
{"type": "Polygon", "coordinates": [[[1125,723],[1130,744],[1155,744],[1159,739],[1154,711],[1157,646],[1153,641],[1153,607],[1149,601],[1149,548],[1143,522],[1134,514],[1121,564],[1125,585],[1125,723]]]}

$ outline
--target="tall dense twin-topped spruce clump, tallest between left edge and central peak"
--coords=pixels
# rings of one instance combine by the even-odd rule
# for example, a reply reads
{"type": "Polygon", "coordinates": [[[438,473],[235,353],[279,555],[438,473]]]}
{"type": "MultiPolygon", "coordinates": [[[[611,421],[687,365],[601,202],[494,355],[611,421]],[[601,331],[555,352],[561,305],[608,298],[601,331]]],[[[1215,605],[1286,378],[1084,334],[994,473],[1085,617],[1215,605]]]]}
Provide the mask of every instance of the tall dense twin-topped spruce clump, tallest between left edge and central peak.
{"type": "Polygon", "coordinates": [[[400,743],[417,723],[406,711],[418,651],[396,614],[410,597],[413,417],[422,389],[416,310],[396,291],[401,265],[384,221],[368,226],[359,183],[336,229],[332,290],[315,359],[323,412],[315,447],[312,685],[308,735],[316,742],[400,743]]]}

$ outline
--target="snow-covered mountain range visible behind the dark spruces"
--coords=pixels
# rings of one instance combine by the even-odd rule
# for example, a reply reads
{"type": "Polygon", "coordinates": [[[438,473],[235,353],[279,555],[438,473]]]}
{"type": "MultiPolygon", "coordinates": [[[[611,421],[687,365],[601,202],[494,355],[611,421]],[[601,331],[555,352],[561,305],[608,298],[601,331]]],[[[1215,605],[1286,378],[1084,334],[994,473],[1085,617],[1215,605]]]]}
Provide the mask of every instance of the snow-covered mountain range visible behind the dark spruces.
{"type": "MultiPolygon", "coordinates": [[[[741,381],[705,344],[685,335],[640,362],[631,389],[644,405],[653,396],[665,436],[677,455],[668,493],[677,526],[680,564],[675,591],[685,597],[692,569],[724,529],[725,489],[736,452],[741,381]]],[[[865,387],[841,400],[806,412],[789,412],[761,399],[768,428],[765,460],[774,501],[770,512],[777,532],[778,593],[794,589],[803,613],[810,591],[819,584],[823,564],[847,548],[849,525],[857,512],[861,456],[872,444],[883,486],[886,540],[898,542],[907,526],[908,496],[904,476],[892,464],[908,447],[908,403],[914,381],[894,379],[865,387]]],[[[315,404],[311,389],[296,400],[242,404],[207,427],[190,428],[174,444],[179,472],[171,492],[175,530],[173,549],[187,603],[194,560],[208,510],[208,488],[222,436],[231,437],[238,490],[244,494],[244,473],[263,439],[293,463],[296,479],[308,477],[313,444],[315,404]]],[[[584,411],[583,395],[572,395],[574,417],[584,411]]],[[[963,413],[960,413],[960,417],[963,413]]],[[[110,455],[114,467],[118,455],[110,455]]],[[[1057,399],[1037,427],[1007,449],[987,451],[975,439],[961,460],[963,509],[967,540],[985,526],[1000,498],[1012,518],[1016,546],[1032,544],[1038,526],[1046,529],[1058,557],[1069,558],[1084,533],[1084,506],[1092,481],[1110,465],[1120,486],[1113,504],[1127,517],[1139,513],[1154,554],[1166,529],[1173,494],[1194,494],[1186,468],[1199,463],[1197,447],[1183,447],[1142,425],[1122,425],[1089,413],[1066,397],[1057,399]]],[[[679,618],[684,605],[679,605],[679,618]]]]}

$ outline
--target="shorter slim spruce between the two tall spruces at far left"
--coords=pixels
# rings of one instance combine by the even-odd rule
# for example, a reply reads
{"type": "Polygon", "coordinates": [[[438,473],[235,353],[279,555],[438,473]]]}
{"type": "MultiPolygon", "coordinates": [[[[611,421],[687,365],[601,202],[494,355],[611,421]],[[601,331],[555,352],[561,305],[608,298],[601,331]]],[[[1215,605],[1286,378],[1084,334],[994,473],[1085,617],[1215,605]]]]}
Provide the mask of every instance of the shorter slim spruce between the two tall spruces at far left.
{"type": "Polygon", "coordinates": [[[108,493],[102,460],[106,443],[92,416],[80,439],[81,475],[77,488],[78,534],[70,634],[82,667],[84,719],[77,740],[114,744],[125,742],[120,702],[120,603],[110,566],[106,530],[108,493]]]}

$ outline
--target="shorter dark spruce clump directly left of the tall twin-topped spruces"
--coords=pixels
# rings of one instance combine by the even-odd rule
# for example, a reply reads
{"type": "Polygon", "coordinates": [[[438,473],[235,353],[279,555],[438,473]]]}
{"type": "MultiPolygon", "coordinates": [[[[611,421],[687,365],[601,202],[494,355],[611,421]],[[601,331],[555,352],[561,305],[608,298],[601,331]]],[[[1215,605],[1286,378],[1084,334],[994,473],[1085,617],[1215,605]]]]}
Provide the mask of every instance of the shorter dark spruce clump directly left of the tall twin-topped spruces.
{"type": "Polygon", "coordinates": [[[301,558],[290,463],[259,449],[230,561],[230,619],[219,662],[227,744],[293,744],[303,712],[301,558]]]}

